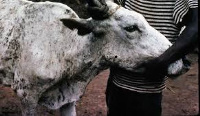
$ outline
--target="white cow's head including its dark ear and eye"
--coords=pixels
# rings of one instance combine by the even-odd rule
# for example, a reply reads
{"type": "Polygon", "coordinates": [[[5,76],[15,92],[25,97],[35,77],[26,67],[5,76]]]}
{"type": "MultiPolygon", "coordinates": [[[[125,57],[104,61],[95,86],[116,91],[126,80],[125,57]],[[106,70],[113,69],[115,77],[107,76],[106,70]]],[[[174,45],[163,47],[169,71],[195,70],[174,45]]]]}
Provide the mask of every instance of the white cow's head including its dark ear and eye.
{"type": "Polygon", "coordinates": [[[171,43],[134,11],[107,2],[110,17],[104,20],[61,19],[78,34],[89,35],[103,63],[133,69],[140,63],[162,54],[171,43]]]}

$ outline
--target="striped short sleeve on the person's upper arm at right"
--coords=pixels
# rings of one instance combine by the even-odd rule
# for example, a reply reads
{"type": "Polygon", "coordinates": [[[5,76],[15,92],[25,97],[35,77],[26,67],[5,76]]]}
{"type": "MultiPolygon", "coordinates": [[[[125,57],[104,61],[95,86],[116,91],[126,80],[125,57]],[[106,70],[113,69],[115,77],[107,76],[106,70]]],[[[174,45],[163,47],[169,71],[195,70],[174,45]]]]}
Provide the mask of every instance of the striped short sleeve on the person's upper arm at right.
{"type": "Polygon", "coordinates": [[[190,8],[197,8],[198,0],[176,0],[174,7],[174,21],[176,24],[182,22],[183,17],[190,8]]]}

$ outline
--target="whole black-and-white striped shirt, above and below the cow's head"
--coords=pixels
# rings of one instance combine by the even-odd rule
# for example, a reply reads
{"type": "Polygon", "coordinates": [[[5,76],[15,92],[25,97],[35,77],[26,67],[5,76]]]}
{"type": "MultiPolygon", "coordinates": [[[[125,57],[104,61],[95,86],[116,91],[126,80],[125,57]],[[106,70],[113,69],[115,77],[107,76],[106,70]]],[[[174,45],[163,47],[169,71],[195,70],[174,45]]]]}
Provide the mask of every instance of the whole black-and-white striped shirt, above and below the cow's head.
{"type": "MultiPolygon", "coordinates": [[[[147,22],[174,42],[180,33],[181,22],[189,8],[197,8],[197,0],[114,0],[129,10],[141,13],[147,22]]],[[[148,81],[143,72],[110,69],[110,78],[121,88],[131,91],[158,93],[165,88],[165,77],[160,82],[148,81]]]]}

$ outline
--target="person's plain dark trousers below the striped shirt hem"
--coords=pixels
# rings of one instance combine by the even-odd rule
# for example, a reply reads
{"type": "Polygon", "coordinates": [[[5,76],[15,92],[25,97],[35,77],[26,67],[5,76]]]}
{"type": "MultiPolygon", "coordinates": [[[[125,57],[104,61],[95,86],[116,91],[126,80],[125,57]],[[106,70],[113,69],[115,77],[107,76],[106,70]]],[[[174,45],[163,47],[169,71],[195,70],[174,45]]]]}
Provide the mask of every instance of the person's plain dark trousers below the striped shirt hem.
{"type": "Polygon", "coordinates": [[[161,116],[162,93],[138,93],[108,81],[107,116],[161,116]]]}

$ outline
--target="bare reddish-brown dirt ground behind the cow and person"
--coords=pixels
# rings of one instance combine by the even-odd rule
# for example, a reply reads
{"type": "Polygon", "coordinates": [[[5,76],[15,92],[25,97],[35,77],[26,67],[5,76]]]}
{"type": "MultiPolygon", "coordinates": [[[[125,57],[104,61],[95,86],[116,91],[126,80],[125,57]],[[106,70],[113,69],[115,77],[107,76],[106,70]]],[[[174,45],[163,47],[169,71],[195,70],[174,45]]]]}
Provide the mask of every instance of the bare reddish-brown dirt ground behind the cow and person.
{"type": "MultiPolygon", "coordinates": [[[[163,116],[197,115],[198,102],[198,57],[189,55],[191,69],[184,75],[169,79],[163,92],[163,116]]],[[[106,116],[105,88],[109,70],[101,72],[87,86],[77,103],[77,116],[106,116]]],[[[40,116],[59,116],[59,110],[38,107],[40,116]]],[[[21,116],[20,101],[9,88],[0,85],[0,116],[21,116]]]]}

